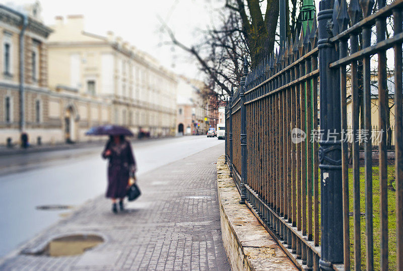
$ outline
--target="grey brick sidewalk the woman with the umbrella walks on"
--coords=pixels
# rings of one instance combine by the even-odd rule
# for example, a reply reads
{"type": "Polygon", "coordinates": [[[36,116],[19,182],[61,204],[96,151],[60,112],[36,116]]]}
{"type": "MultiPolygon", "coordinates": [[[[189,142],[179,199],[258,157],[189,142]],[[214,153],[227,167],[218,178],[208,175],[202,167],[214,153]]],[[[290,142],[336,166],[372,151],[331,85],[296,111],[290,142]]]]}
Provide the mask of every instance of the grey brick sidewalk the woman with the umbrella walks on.
{"type": "MultiPolygon", "coordinates": [[[[24,249],[55,236],[95,233],[106,240],[78,256],[17,254],[0,270],[229,270],[220,228],[216,161],[220,144],[139,178],[143,195],[114,215],[99,196],[24,249]]],[[[156,158],[158,159],[158,158],[156,158]]]]}

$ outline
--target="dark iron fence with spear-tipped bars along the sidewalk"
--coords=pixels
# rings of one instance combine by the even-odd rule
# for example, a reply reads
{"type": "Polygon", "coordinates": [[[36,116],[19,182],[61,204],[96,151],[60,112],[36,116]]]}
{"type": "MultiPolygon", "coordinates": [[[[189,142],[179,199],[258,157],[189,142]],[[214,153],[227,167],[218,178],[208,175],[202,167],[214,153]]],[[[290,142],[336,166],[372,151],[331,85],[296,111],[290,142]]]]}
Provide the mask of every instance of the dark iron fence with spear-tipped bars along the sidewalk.
{"type": "Polygon", "coordinates": [[[387,6],[381,0],[372,14],[373,5],[373,0],[351,0],[349,5],[345,0],[320,1],[317,27],[316,21],[303,26],[295,40],[282,44],[250,72],[245,58],[244,77],[226,108],[227,163],[242,201],[303,269],[403,270],[403,0],[387,6]],[[391,19],[393,33],[386,38],[386,21],[391,19]],[[372,28],[376,29],[373,42],[372,28]],[[389,48],[395,71],[394,166],[388,165],[386,149],[389,48]],[[378,59],[379,86],[375,130],[371,127],[373,56],[378,59]],[[351,86],[346,84],[347,65],[351,86]],[[350,144],[350,172],[348,88],[351,130],[353,137],[359,137],[350,144]],[[360,131],[360,114],[367,132],[360,131]],[[359,162],[362,142],[364,165],[359,162]],[[375,169],[372,143],[379,149],[375,169]],[[394,206],[388,207],[391,201],[394,206]]]}

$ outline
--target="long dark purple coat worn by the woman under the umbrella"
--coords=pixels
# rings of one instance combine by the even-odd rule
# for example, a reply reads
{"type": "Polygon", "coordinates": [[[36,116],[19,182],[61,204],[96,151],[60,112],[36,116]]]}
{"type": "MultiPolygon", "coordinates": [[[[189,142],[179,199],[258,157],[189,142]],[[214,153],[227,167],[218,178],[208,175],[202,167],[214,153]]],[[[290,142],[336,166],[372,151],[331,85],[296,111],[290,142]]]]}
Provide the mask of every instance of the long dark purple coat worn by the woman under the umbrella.
{"type": "Polygon", "coordinates": [[[125,197],[129,176],[136,172],[136,160],[131,151],[130,143],[125,140],[120,144],[108,141],[105,150],[102,152],[102,157],[109,159],[106,197],[125,197]],[[107,150],[111,151],[109,156],[105,155],[107,150]]]}

